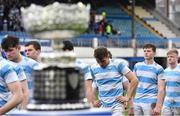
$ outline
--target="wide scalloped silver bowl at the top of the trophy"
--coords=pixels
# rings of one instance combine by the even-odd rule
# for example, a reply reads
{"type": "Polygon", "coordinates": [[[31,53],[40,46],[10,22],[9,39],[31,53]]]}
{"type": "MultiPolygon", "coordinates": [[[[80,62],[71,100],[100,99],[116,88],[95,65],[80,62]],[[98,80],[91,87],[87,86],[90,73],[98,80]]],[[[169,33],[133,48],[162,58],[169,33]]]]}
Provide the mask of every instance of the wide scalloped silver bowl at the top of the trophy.
{"type": "Polygon", "coordinates": [[[90,5],[81,2],[63,4],[54,2],[48,6],[32,4],[21,8],[24,28],[35,37],[43,39],[72,38],[86,31],[90,5]]]}

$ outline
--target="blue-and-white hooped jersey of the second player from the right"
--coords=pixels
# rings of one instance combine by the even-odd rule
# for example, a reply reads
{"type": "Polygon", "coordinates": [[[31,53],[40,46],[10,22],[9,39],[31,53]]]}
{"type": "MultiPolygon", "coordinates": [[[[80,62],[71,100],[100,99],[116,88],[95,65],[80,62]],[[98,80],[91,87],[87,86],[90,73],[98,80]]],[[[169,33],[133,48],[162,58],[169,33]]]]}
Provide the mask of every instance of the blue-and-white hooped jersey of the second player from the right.
{"type": "Polygon", "coordinates": [[[136,63],[134,66],[139,83],[136,88],[135,103],[155,103],[158,93],[158,79],[162,79],[164,69],[155,61],[153,64],[145,62],[136,63]]]}

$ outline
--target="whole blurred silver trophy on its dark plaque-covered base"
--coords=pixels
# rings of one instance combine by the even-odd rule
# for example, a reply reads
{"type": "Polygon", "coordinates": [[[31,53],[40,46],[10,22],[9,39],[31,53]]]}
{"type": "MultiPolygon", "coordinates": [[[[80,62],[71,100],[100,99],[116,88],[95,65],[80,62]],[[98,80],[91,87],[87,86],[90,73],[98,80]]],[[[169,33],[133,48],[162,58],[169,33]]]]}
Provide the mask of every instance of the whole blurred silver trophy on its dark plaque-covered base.
{"type": "Polygon", "coordinates": [[[45,7],[32,4],[21,11],[27,32],[53,41],[53,52],[44,54],[42,64],[33,72],[33,102],[28,110],[89,108],[84,99],[83,74],[75,65],[75,54],[63,52],[61,41],[86,31],[90,5],[55,2],[45,7]]]}

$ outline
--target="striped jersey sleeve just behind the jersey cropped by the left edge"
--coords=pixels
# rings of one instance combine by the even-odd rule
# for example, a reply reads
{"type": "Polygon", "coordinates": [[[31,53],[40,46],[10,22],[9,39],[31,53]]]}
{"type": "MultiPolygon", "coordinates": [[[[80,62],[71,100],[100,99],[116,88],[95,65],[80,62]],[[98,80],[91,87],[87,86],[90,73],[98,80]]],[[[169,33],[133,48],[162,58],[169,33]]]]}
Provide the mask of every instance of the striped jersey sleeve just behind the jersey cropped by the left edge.
{"type": "Polygon", "coordinates": [[[18,65],[18,63],[15,63],[12,61],[9,61],[9,63],[14,67],[19,80],[20,81],[26,80],[26,75],[25,75],[23,67],[21,65],[18,65]]]}

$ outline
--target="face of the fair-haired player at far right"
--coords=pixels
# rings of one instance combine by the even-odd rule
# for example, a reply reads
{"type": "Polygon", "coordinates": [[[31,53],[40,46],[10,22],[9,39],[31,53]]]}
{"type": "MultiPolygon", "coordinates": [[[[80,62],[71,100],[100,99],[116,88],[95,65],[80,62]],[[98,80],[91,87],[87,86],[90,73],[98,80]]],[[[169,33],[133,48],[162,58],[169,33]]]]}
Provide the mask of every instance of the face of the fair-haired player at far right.
{"type": "Polygon", "coordinates": [[[167,62],[169,65],[178,63],[178,55],[176,53],[170,53],[167,55],[167,62]]]}

